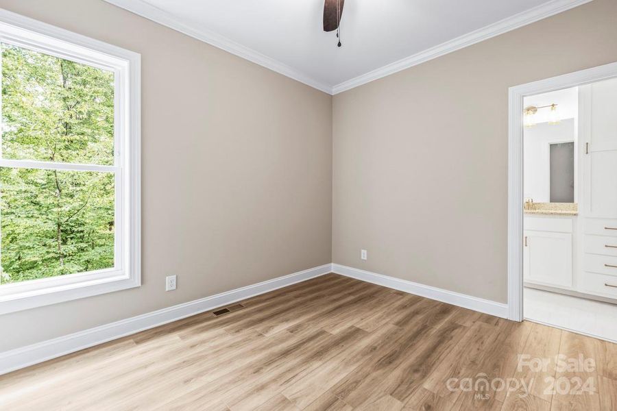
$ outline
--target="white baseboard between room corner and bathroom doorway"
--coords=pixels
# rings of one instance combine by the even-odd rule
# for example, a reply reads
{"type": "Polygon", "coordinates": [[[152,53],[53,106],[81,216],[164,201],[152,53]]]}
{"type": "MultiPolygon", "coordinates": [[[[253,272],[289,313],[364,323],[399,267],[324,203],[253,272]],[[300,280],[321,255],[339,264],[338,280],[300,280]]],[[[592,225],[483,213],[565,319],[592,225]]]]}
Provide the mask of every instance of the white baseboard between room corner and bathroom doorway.
{"type": "Polygon", "coordinates": [[[346,277],[359,279],[361,281],[370,282],[372,284],[377,284],[378,286],[394,288],[395,290],[409,292],[409,294],[413,295],[420,295],[420,297],[434,299],[443,303],[452,304],[453,306],[484,312],[485,314],[498,316],[503,319],[508,318],[508,306],[504,303],[497,303],[496,301],[489,301],[478,297],[472,297],[470,295],[460,294],[459,292],[425,286],[423,284],[418,284],[404,279],[371,273],[370,271],[354,269],[352,267],[343,266],[340,264],[332,264],[332,272],[345,275],[346,277]]]}

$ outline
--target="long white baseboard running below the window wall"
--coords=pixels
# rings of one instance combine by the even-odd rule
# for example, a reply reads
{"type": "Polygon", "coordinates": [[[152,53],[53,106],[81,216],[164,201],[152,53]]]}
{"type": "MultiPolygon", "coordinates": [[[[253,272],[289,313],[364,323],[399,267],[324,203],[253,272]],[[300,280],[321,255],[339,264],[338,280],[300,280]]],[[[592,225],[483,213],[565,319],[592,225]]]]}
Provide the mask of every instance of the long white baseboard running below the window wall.
{"type": "Polygon", "coordinates": [[[227,306],[230,303],[290,286],[291,284],[303,282],[307,279],[319,277],[319,275],[328,274],[330,272],[332,272],[332,264],[324,264],[313,269],[285,275],[284,277],[269,279],[268,281],[251,286],[221,292],[220,294],[189,301],[188,303],[178,304],[178,306],[163,308],[162,310],[134,316],[130,319],[86,329],[67,336],[27,345],[26,347],[4,351],[0,353],[0,375],[26,366],[38,364],[39,362],[51,360],[52,358],[64,356],[75,351],[80,351],[81,349],[93,347],[94,345],[106,343],[123,336],[135,334],[136,332],[157,327],[158,325],[178,321],[188,316],[199,314],[200,312],[227,306]]]}

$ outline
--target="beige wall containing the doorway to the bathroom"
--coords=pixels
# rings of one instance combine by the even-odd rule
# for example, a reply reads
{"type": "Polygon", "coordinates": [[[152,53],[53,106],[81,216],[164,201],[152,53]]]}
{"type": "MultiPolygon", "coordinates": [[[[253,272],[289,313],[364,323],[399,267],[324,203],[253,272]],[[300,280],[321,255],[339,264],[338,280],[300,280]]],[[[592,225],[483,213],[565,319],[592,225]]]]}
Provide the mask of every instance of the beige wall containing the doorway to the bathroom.
{"type": "Polygon", "coordinates": [[[615,61],[595,0],[336,95],[334,262],[506,302],[508,88],[615,61]]]}

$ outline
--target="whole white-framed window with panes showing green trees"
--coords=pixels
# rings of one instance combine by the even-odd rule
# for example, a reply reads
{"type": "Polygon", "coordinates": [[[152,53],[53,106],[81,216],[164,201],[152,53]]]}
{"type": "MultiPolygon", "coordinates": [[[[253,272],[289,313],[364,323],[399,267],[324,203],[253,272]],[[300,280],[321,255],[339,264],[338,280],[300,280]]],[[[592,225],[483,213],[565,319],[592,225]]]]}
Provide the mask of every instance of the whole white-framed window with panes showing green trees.
{"type": "Polygon", "coordinates": [[[139,286],[140,56],[0,13],[0,314],[139,286]]]}

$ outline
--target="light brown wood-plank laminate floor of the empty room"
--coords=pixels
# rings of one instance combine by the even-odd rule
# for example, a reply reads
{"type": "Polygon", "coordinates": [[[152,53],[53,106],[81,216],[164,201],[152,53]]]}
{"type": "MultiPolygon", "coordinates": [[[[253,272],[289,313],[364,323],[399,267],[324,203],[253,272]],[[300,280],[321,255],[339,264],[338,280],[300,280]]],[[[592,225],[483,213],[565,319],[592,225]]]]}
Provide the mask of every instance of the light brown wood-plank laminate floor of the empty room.
{"type": "Polygon", "coordinates": [[[229,309],[3,375],[0,409],[617,410],[594,338],[334,274],[229,309]]]}

